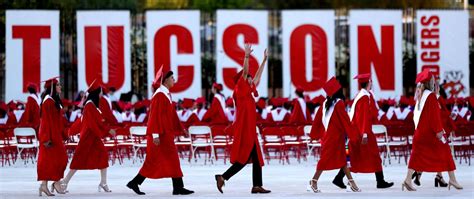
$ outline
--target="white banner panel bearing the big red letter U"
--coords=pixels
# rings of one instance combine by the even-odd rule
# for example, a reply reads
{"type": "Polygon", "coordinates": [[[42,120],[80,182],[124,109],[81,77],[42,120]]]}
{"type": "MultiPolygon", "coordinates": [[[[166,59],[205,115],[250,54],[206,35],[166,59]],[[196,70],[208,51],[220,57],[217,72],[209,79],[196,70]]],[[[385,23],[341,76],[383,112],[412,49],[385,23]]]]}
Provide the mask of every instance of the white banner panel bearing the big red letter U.
{"type": "Polygon", "coordinates": [[[97,79],[117,93],[131,89],[129,11],[78,11],[78,87],[97,79]]]}

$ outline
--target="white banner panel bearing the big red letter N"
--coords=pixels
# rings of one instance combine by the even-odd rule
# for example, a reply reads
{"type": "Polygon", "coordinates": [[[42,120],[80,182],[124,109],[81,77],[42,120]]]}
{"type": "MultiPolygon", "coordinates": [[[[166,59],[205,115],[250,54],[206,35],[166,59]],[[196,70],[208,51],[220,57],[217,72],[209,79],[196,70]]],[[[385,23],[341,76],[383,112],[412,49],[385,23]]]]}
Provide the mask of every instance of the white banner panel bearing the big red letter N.
{"type": "Polygon", "coordinates": [[[354,76],[371,73],[376,98],[403,94],[402,11],[351,10],[351,97],[359,91],[354,76]]]}

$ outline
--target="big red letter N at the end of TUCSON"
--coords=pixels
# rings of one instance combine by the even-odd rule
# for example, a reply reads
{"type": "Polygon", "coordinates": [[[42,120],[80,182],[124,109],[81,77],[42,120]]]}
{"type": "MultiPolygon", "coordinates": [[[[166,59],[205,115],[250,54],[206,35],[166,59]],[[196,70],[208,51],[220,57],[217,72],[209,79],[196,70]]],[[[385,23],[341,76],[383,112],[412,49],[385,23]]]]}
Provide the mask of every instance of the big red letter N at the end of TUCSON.
{"type": "Polygon", "coordinates": [[[371,65],[379,80],[381,90],[395,90],[395,44],[394,27],[382,26],[381,49],[379,50],[370,26],[359,26],[359,74],[370,73],[371,65]]]}

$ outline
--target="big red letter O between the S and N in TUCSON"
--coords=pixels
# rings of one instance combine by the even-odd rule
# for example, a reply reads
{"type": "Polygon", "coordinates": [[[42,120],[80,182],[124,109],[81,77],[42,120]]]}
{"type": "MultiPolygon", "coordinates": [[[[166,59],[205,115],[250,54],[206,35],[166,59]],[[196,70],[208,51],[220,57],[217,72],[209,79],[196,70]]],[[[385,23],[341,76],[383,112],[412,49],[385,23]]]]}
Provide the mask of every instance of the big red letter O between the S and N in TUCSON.
{"type": "Polygon", "coordinates": [[[290,36],[290,73],[295,87],[306,91],[316,91],[323,87],[328,74],[328,46],[324,30],[315,25],[301,25],[290,36]],[[305,46],[306,36],[311,36],[311,46],[305,46]],[[312,78],[308,82],[306,74],[306,48],[312,48],[312,78]]]}

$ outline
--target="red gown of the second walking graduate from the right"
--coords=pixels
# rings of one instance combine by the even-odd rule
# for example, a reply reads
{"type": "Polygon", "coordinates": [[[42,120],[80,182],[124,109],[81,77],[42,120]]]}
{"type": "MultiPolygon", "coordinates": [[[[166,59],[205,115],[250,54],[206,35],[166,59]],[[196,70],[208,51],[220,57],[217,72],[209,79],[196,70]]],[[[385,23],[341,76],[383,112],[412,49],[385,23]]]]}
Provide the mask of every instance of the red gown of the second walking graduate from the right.
{"type": "Polygon", "coordinates": [[[362,96],[355,104],[352,125],[357,126],[360,136],[367,133],[367,144],[362,144],[361,139],[349,142],[351,171],[355,173],[382,171],[382,159],[380,159],[377,140],[372,132],[372,122],[374,121],[372,111],[368,95],[362,96]]]}

